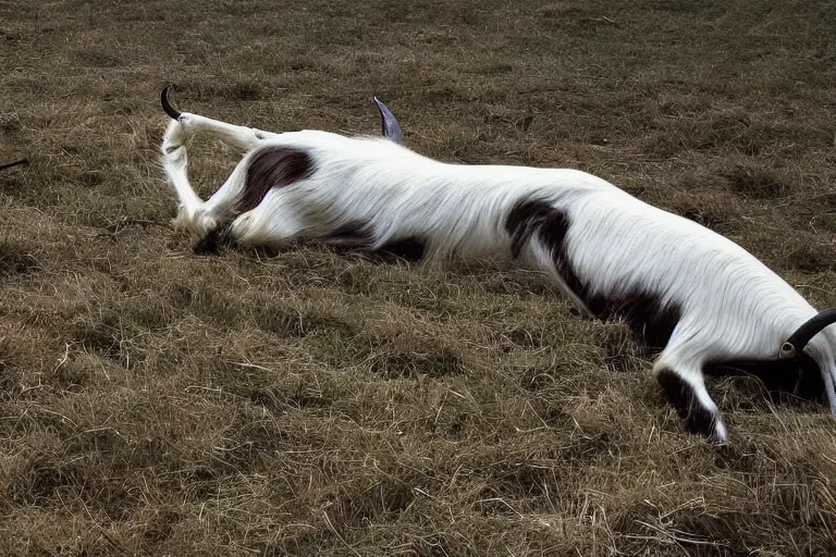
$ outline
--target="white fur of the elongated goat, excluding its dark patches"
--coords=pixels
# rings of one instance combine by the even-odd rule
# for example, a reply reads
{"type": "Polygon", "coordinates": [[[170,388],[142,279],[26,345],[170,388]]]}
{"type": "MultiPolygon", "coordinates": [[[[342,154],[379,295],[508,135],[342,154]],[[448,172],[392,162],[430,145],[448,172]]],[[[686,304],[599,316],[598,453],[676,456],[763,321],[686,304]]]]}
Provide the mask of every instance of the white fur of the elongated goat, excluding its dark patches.
{"type": "MultiPolygon", "coordinates": [[[[372,248],[417,236],[427,240],[430,260],[511,258],[505,227],[509,211],[526,198],[548,201],[568,216],[567,256],[590,294],[612,297],[642,289],[656,295],[663,306],[680,308],[680,320],[653,370],[672,370],[691,385],[715,419],[709,436],[717,442],[727,440],[727,431],[705,389],[703,364],[773,358],[782,343],[816,313],[791,286],[732,240],[576,170],[446,164],[382,138],[315,131],[273,134],[185,112],[169,125],[162,153],[180,200],[177,222],[206,234],[231,220],[241,245],[323,239],[341,225],[361,221],[372,231],[372,248]],[[196,135],[220,139],[245,153],[207,201],[195,194],[186,175],[186,143],[196,135]],[[251,211],[233,214],[248,164],[266,147],[305,151],[316,170],[290,187],[269,190],[251,211]]],[[[583,307],[537,234],[519,260],[544,270],[583,307]]],[[[836,336],[826,329],[806,350],[822,370],[836,414],[834,347],[836,336]]]]}

